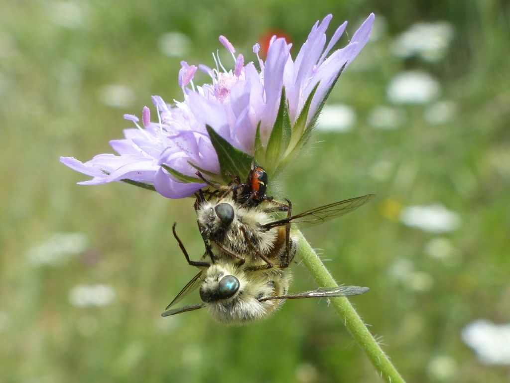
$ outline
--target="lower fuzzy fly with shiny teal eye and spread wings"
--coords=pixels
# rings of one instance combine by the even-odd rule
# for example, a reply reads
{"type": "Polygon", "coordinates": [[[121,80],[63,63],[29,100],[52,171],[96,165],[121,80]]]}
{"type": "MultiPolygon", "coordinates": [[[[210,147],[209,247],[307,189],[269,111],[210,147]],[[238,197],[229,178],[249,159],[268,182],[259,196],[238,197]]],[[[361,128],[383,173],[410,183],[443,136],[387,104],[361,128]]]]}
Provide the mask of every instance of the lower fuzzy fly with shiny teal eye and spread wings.
{"type": "MultiPolygon", "coordinates": [[[[176,238],[184,249],[182,242],[176,238]]],[[[186,250],[183,251],[189,260],[186,250]]],[[[339,286],[289,294],[292,273],[288,268],[254,270],[248,264],[230,262],[228,257],[213,258],[215,262],[206,265],[205,259],[209,258],[206,254],[198,261],[202,262],[200,265],[189,261],[191,265],[200,267],[201,271],[172,300],[162,316],[207,308],[211,316],[221,323],[242,325],[267,318],[282,306],[285,299],[350,296],[369,290],[367,287],[339,286]],[[201,303],[170,309],[197,288],[201,303]]]]}

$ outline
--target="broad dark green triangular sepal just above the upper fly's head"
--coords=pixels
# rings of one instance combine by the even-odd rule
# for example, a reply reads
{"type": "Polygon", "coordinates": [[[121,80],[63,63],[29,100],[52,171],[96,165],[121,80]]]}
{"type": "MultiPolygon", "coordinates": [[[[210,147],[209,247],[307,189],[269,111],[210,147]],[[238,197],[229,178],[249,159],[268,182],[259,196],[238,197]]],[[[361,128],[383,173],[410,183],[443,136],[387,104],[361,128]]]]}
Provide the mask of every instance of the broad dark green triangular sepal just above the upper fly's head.
{"type": "Polygon", "coordinates": [[[214,150],[216,150],[216,155],[218,156],[223,181],[226,183],[231,182],[232,175],[238,175],[241,178],[248,175],[253,157],[232,146],[211,126],[206,125],[206,129],[211,138],[214,150]]]}

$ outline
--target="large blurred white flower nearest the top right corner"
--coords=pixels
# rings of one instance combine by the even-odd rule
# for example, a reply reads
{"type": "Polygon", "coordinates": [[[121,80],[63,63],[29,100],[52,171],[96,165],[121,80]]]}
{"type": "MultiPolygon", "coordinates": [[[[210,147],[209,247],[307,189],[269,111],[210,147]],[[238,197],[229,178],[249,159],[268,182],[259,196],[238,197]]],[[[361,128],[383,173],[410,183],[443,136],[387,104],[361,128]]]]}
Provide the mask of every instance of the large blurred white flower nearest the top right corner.
{"type": "Polygon", "coordinates": [[[398,57],[419,56],[427,61],[441,60],[453,37],[453,27],[445,21],[419,22],[398,35],[391,50],[398,57]]]}

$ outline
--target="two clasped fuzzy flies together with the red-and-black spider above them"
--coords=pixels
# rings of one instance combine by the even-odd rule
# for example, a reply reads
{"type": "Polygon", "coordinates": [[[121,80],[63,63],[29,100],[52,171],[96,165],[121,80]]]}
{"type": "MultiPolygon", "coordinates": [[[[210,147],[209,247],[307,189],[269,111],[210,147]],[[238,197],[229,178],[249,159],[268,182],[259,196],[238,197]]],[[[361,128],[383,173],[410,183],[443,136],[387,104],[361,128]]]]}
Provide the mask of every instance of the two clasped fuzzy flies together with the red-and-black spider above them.
{"type": "Polygon", "coordinates": [[[201,178],[215,189],[195,194],[194,207],[206,252],[199,261],[190,260],[173,225],[173,235],[188,264],[200,271],[172,300],[163,316],[206,307],[222,323],[243,324],[269,316],[285,299],[350,296],[368,290],[339,286],[289,294],[292,273],[288,267],[298,246],[291,225],[302,227],[340,217],[370,201],[373,194],[292,215],[288,199],[284,203],[266,195],[267,173],[260,166],[252,164],[245,183],[236,177],[226,187],[201,178]],[[287,217],[275,219],[278,212],[286,212],[287,217]],[[196,288],[201,303],[170,309],[196,288]]]}

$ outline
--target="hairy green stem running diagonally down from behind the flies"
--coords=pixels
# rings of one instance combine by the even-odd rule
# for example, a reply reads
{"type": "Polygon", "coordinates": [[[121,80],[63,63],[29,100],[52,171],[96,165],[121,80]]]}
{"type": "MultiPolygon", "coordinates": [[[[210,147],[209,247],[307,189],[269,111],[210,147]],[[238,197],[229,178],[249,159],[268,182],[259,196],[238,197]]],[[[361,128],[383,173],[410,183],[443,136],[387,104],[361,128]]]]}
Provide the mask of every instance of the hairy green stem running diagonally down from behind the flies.
{"type": "MultiPolygon", "coordinates": [[[[335,279],[333,279],[333,276],[331,276],[328,269],[326,269],[322,261],[317,256],[315,250],[310,246],[301,232],[296,230],[293,233],[293,237],[298,238],[299,258],[302,260],[304,266],[307,267],[308,271],[310,271],[319,287],[338,286],[335,279]]],[[[349,300],[346,297],[330,299],[331,303],[335,309],[337,309],[338,314],[345,323],[345,326],[363,351],[365,351],[381,377],[388,383],[405,383],[402,376],[400,376],[398,371],[390,362],[388,356],[384,353],[384,351],[382,351],[372,334],[370,334],[367,326],[363,323],[363,320],[354,310],[349,300]]]]}

